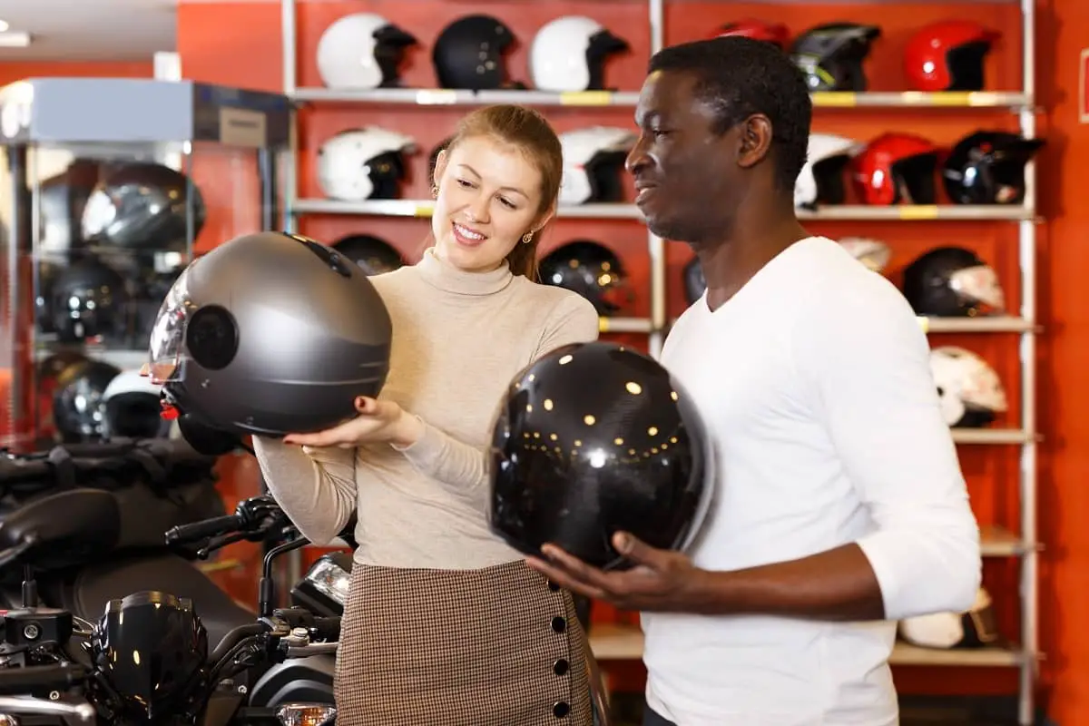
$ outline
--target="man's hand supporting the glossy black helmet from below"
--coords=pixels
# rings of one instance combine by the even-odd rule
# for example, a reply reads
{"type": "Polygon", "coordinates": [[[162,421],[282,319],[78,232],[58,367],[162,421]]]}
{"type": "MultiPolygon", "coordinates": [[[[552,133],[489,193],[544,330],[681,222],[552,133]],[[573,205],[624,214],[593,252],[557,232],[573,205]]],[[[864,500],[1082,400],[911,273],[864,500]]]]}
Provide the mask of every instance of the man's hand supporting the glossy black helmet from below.
{"type": "Polygon", "coordinates": [[[635,567],[605,571],[554,544],[541,547],[544,561],[527,557],[526,564],[562,588],[621,610],[699,612],[710,573],[680,552],[658,550],[627,532],[616,532],[613,546],[635,567]]]}

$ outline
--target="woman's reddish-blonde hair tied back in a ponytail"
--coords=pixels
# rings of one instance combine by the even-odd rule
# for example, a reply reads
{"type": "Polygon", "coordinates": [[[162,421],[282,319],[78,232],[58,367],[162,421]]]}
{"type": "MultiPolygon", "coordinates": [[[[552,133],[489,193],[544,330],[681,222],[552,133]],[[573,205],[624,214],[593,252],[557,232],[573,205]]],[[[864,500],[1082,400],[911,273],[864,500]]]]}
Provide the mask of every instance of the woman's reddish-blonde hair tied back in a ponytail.
{"type": "MultiPolygon", "coordinates": [[[[544,116],[524,106],[500,104],[477,109],[457,123],[457,130],[446,144],[446,152],[449,153],[466,138],[478,136],[495,138],[517,148],[529,157],[541,176],[541,200],[537,209],[537,218],[546,214],[560,196],[560,181],[563,177],[563,147],[544,116]]],[[[526,232],[533,232],[533,238],[528,243],[519,241],[511,254],[506,256],[506,261],[514,274],[536,280],[537,245],[541,231],[526,230],[526,232]]]]}

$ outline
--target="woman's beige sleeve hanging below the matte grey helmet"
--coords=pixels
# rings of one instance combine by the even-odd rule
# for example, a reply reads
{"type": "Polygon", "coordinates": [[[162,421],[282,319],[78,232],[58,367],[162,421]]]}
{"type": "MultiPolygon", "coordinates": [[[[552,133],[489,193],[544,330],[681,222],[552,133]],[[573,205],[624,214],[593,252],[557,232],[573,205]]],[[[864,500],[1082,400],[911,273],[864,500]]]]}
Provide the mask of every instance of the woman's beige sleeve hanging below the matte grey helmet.
{"type": "Polygon", "coordinates": [[[299,447],[265,436],[253,441],[269,493],[303,537],[329,544],[356,507],[356,450],[299,447]]]}

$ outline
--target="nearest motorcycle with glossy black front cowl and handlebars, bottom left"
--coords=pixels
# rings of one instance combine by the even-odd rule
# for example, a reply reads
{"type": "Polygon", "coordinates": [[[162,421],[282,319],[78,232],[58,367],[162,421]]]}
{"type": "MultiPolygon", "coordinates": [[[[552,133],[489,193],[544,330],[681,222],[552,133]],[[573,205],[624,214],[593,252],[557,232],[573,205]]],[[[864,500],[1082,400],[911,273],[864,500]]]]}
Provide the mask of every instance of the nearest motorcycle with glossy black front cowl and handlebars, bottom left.
{"type": "MultiPolygon", "coordinates": [[[[69,518],[49,529],[40,508],[21,509],[0,528],[0,563],[23,566],[24,557],[42,550],[70,551],[75,539],[85,556],[110,550],[115,537],[111,525],[119,517],[112,493],[74,489],[57,496],[54,505],[79,513],[72,519],[82,522],[81,530],[68,525],[69,518]]],[[[284,701],[259,704],[240,685],[248,682],[247,674],[255,668],[267,670],[315,655],[331,659],[335,653],[339,616],[273,606],[273,561],[307,541],[267,501],[252,502],[242,514],[170,531],[175,543],[201,542],[201,551],[256,532],[279,531],[287,540],[265,556],[256,622],[250,618],[232,628],[209,653],[198,601],[142,591],[111,599],[98,622],[81,629],[83,624],[70,611],[39,605],[33,569],[26,567],[24,606],[4,615],[0,632],[0,719],[21,724],[32,717],[41,723],[38,717],[53,716],[124,726],[334,723],[331,698],[302,701],[289,691],[284,701]],[[211,534],[231,528],[231,534],[211,534]]]]}

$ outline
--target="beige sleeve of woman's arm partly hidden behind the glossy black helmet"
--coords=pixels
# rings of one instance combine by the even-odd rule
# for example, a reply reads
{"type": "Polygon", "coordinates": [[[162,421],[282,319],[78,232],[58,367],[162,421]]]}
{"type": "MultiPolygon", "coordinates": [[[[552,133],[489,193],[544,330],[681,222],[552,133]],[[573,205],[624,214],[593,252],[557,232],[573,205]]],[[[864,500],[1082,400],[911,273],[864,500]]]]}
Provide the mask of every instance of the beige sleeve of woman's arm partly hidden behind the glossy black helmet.
{"type": "MultiPolygon", "coordinates": [[[[583,297],[565,296],[549,316],[534,360],[564,345],[598,337],[598,313],[583,297]]],[[[498,402],[497,402],[498,403],[498,402]]],[[[474,505],[482,505],[488,484],[488,452],[466,444],[424,421],[424,435],[397,448],[421,473],[452,488],[474,505]]]]}

